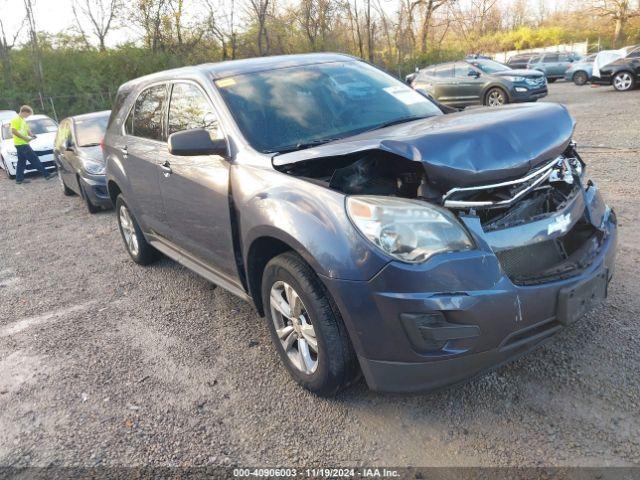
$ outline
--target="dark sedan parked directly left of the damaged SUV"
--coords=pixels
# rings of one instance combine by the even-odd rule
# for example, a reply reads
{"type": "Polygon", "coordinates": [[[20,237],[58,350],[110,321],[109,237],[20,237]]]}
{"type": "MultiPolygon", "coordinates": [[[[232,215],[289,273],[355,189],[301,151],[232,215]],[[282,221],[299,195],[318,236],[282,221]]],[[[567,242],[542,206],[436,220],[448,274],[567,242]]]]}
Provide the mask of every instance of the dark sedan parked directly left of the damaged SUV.
{"type": "Polygon", "coordinates": [[[111,208],[102,156],[110,110],[68,117],[60,122],[54,160],[65,195],[80,195],[90,213],[111,208]]]}

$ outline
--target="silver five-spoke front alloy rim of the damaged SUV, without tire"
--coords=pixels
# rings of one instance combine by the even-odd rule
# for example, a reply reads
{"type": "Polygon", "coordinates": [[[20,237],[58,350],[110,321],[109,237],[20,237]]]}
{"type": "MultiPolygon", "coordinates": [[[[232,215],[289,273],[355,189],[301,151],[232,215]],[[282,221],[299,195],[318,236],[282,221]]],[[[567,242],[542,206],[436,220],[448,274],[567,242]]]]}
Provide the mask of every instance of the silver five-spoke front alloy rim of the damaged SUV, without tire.
{"type": "Polygon", "coordinates": [[[270,293],[271,318],[291,364],[311,375],[318,368],[318,340],[307,309],[291,285],[277,281],[270,293]]]}

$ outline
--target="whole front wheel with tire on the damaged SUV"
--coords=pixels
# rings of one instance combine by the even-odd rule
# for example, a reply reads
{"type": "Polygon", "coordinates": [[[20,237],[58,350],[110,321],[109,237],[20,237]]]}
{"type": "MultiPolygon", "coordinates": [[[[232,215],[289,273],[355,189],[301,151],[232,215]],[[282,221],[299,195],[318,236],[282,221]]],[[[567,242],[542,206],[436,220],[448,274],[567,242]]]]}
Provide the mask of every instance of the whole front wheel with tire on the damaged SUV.
{"type": "Polygon", "coordinates": [[[262,303],[273,343],[296,382],[331,396],[353,381],[358,363],[340,312],[300,256],[287,252],[269,261],[262,303]]]}

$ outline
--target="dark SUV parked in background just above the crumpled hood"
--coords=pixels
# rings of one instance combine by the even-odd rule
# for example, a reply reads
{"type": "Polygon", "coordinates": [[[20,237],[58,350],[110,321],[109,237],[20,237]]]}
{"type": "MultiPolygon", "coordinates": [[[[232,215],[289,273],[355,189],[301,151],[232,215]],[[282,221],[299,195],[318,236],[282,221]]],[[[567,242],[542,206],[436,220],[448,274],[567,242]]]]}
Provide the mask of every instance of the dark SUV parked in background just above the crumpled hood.
{"type": "Polygon", "coordinates": [[[547,95],[544,74],[513,70],[487,59],[443,63],[420,70],[411,86],[452,107],[535,102],[547,95]]]}

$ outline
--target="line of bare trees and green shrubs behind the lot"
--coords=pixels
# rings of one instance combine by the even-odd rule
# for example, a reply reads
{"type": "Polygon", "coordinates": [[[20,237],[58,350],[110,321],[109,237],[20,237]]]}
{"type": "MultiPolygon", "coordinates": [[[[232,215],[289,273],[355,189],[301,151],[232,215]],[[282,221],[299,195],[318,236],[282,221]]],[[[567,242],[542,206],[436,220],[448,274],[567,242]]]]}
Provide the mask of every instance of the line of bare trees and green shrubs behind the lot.
{"type": "Polygon", "coordinates": [[[640,43],[640,0],[72,0],[56,34],[38,30],[42,0],[3,1],[22,2],[24,19],[13,31],[0,19],[0,109],[58,117],[109,108],[121,83],[187,64],[335,51],[401,77],[469,53],[640,43]]]}

